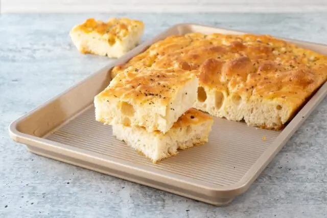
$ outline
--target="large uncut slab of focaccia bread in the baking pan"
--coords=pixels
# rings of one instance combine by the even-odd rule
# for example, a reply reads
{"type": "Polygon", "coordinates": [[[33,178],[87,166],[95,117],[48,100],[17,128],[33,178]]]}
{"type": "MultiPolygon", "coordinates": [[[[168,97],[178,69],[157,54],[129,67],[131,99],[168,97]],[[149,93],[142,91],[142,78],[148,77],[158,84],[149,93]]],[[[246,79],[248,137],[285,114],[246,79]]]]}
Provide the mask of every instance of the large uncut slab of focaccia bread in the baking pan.
{"type": "Polygon", "coordinates": [[[194,107],[248,125],[281,129],[327,79],[327,57],[269,35],[191,33],[156,42],[135,67],[199,71],[194,107]]]}

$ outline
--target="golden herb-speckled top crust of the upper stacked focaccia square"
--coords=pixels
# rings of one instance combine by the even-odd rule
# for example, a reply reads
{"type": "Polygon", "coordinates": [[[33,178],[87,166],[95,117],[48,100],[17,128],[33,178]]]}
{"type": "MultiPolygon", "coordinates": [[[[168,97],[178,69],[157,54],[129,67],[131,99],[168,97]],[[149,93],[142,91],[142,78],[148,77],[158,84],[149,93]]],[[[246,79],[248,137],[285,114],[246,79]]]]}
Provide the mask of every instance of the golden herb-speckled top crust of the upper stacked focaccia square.
{"type": "Polygon", "coordinates": [[[167,104],[186,82],[196,78],[197,71],[181,69],[133,69],[118,74],[98,98],[120,98],[130,103],[167,104]]]}

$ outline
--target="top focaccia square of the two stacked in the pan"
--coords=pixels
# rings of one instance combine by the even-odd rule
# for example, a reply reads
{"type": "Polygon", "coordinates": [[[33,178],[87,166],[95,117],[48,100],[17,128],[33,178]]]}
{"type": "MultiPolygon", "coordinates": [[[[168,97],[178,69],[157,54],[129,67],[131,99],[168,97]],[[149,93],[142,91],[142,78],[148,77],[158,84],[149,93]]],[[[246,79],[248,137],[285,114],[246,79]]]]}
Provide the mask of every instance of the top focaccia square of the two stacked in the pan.
{"type": "Polygon", "coordinates": [[[96,120],[166,133],[197,98],[196,71],[134,69],[95,97],[96,120]]]}

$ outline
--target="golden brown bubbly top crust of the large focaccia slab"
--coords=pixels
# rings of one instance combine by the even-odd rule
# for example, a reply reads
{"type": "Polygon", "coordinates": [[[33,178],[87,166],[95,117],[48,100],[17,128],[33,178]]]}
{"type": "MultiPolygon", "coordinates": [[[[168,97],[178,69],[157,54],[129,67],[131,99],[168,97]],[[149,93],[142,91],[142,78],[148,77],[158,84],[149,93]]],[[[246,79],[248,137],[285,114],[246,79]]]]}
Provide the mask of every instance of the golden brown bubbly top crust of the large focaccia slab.
{"type": "Polygon", "coordinates": [[[281,102],[293,111],[327,80],[326,56],[269,35],[170,36],[112,73],[142,66],[198,70],[200,85],[209,89],[281,102]]]}

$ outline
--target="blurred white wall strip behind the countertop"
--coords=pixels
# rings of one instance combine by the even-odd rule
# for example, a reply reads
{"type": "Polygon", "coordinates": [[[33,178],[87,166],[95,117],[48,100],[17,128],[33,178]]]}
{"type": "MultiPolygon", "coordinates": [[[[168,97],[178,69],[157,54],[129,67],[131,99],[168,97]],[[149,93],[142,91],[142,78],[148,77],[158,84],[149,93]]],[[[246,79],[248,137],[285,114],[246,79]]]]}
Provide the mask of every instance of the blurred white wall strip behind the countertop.
{"type": "Polygon", "coordinates": [[[327,0],[0,0],[1,13],[327,12],[327,0]]]}

